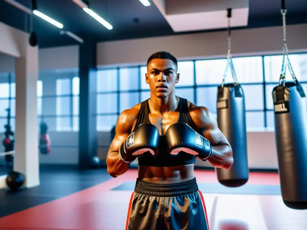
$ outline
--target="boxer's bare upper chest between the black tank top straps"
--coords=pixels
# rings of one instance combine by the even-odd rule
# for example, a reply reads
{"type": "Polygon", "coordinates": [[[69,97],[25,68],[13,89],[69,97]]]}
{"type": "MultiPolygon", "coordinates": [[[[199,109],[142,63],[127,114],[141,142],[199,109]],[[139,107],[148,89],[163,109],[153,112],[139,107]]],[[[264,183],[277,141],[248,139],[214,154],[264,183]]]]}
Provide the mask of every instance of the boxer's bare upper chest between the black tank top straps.
{"type": "Polygon", "coordinates": [[[148,114],[150,123],[158,128],[160,135],[165,135],[169,126],[178,122],[179,116],[180,113],[177,111],[167,112],[163,115],[157,113],[148,114]]]}

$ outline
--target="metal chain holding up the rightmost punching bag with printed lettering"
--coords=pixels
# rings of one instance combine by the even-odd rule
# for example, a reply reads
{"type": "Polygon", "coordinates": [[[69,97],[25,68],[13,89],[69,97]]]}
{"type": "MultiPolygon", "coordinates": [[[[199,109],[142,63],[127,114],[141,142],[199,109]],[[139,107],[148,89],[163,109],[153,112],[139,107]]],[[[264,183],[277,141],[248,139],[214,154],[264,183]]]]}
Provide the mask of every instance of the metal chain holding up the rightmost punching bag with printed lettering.
{"type": "Polygon", "coordinates": [[[294,74],[294,71],[293,71],[293,68],[292,68],[292,65],[289,59],[289,50],[286,44],[286,13],[287,13],[287,10],[282,9],[281,13],[282,13],[282,31],[283,31],[284,44],[283,44],[283,57],[282,57],[282,71],[281,71],[280,78],[279,78],[279,85],[283,83],[283,85],[285,86],[286,67],[288,67],[294,83],[297,82],[297,78],[294,74]]]}

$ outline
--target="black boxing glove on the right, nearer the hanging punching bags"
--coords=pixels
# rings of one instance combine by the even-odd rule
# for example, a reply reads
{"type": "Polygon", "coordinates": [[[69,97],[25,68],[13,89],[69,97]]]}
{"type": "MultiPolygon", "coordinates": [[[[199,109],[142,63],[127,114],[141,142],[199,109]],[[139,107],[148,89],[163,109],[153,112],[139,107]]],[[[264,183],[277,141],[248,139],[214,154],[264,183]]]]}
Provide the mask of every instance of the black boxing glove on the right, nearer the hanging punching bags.
{"type": "Polygon", "coordinates": [[[212,154],[210,142],[185,123],[175,123],[165,132],[169,153],[177,155],[180,151],[207,160],[212,154]]]}

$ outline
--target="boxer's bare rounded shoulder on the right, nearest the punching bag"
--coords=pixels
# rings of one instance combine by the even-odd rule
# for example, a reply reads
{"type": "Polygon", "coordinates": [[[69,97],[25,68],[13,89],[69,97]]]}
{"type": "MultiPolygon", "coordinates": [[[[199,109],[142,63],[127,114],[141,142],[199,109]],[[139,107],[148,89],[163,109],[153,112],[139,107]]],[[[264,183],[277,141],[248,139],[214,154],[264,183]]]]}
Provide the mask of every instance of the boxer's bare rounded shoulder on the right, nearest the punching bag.
{"type": "Polygon", "coordinates": [[[188,101],[188,109],[192,121],[198,128],[212,129],[217,127],[216,118],[208,108],[188,101]]]}

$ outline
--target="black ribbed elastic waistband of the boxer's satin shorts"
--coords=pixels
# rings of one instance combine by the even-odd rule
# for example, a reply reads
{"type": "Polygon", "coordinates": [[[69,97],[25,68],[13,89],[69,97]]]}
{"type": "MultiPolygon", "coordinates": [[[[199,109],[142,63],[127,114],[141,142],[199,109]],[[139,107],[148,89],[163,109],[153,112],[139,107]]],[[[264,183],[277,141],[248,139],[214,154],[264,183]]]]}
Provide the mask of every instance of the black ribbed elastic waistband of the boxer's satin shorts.
{"type": "Polygon", "coordinates": [[[153,197],[175,197],[196,193],[196,178],[180,183],[160,184],[137,179],[134,191],[138,194],[153,197]]]}

